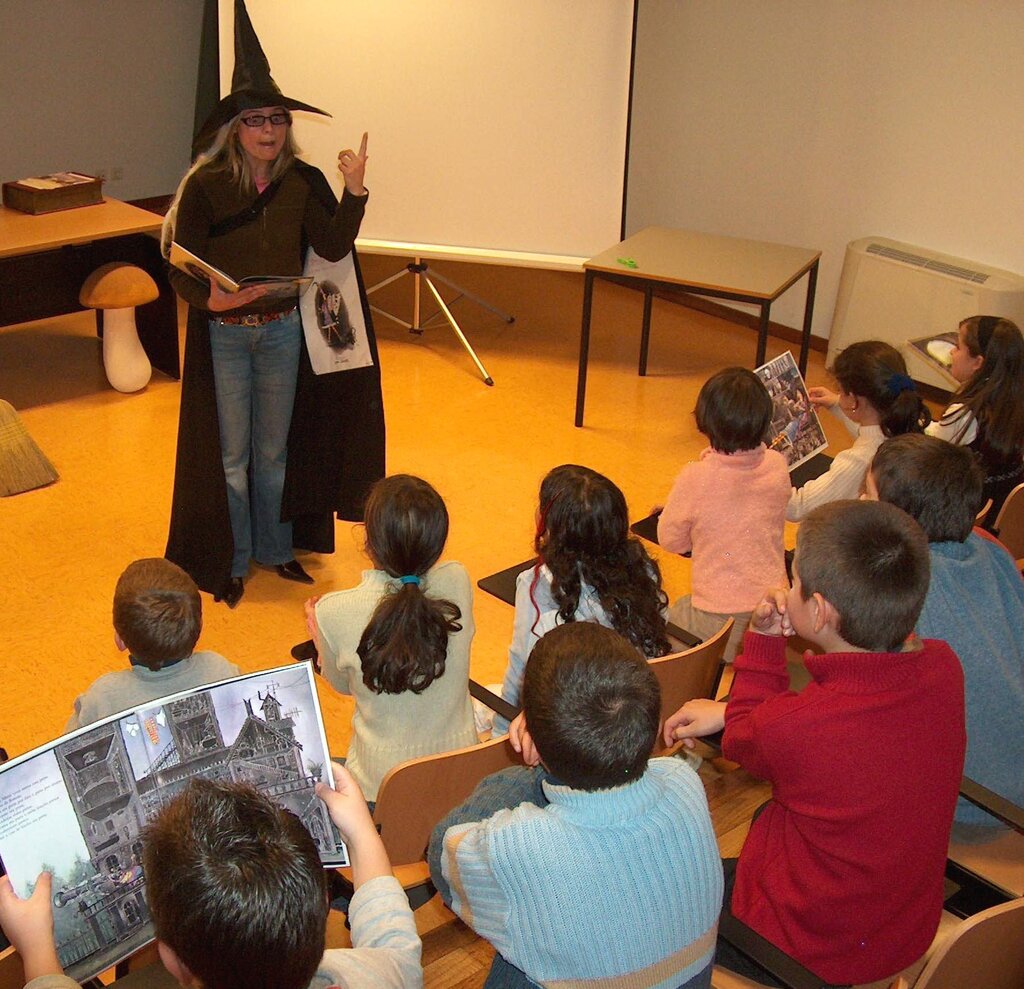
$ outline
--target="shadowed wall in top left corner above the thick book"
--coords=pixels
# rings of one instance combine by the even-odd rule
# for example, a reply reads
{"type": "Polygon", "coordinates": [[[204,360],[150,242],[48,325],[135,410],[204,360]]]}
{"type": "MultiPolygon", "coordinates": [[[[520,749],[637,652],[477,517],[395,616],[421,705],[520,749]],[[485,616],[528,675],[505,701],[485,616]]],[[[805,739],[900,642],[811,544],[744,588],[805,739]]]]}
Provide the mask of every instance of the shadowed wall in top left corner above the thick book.
{"type": "Polygon", "coordinates": [[[4,181],[123,170],[117,199],[188,167],[203,0],[0,0],[4,181]]]}

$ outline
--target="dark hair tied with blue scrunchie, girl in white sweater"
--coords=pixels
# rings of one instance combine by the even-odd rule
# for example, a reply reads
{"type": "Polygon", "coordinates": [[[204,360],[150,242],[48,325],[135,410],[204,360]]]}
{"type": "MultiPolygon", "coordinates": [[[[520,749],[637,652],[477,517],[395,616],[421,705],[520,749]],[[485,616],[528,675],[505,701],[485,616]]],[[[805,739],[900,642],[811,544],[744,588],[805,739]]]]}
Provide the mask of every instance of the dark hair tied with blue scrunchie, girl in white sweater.
{"type": "Polygon", "coordinates": [[[878,412],[886,436],[923,433],[932,421],[903,355],[882,340],[851,343],[836,358],[833,374],[848,395],[857,395],[878,412]]]}

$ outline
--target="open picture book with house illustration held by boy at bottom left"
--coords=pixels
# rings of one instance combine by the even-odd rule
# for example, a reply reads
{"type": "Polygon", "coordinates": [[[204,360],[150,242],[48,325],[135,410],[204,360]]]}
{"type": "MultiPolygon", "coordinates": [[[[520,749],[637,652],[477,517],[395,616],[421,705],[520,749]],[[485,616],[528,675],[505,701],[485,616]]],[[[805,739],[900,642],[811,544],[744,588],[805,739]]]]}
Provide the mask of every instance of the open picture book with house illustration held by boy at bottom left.
{"type": "Polygon", "coordinates": [[[0,766],[0,859],[22,897],[52,874],[57,955],[77,982],[153,940],[141,830],[197,777],[255,786],[299,817],[325,867],[348,864],[314,792],[334,780],[308,663],[148,701],[0,766]]]}

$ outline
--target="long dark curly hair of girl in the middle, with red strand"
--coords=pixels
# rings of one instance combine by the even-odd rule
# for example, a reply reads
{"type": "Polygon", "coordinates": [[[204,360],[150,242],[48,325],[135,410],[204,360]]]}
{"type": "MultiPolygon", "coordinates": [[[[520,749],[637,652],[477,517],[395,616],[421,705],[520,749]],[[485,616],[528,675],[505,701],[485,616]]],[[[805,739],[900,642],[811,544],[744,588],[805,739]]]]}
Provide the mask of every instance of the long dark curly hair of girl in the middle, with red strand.
{"type": "MultiPolygon", "coordinates": [[[[645,656],[671,651],[663,610],[662,571],[630,535],[623,492],[603,474],[563,464],[541,482],[534,548],[551,571],[562,621],[572,621],[584,584],[597,594],[611,628],[645,656]]],[[[530,600],[540,579],[534,574],[530,600]]],[[[538,613],[540,613],[538,611],[538,613]]]]}

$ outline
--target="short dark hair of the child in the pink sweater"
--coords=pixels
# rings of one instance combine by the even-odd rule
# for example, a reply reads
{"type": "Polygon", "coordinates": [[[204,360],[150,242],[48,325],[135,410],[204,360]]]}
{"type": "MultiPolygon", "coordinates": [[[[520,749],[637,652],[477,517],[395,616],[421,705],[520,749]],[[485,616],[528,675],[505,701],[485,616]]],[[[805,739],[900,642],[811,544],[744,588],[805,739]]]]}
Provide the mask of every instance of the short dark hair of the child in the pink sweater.
{"type": "Polygon", "coordinates": [[[735,454],[756,449],[765,441],[772,400],[753,371],[726,368],[703,383],[693,415],[714,449],[735,454]]]}

